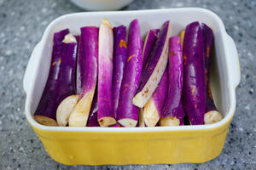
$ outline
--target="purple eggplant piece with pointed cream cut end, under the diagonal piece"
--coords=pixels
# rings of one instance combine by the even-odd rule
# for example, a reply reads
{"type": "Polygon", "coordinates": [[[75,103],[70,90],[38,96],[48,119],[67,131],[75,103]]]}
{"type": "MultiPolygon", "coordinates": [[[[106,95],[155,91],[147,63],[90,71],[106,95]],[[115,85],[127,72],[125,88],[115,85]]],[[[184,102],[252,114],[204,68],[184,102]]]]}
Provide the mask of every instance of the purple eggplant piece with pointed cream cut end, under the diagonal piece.
{"type": "Polygon", "coordinates": [[[168,73],[164,72],[160,80],[158,88],[155,89],[154,94],[148,103],[143,108],[143,120],[147,127],[154,127],[160,119],[161,111],[166,103],[168,92],[168,73]]]}

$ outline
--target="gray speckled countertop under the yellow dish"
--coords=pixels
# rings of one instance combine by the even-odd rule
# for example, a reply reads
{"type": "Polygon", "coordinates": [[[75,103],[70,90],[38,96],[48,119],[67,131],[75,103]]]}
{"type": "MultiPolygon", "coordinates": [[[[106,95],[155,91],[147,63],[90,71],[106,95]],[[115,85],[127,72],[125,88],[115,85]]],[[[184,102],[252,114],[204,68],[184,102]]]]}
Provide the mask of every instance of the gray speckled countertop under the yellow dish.
{"type": "Polygon", "coordinates": [[[26,122],[22,79],[45,27],[61,14],[82,9],[63,0],[0,0],[0,169],[256,169],[256,1],[135,0],[124,9],[177,7],[211,9],[224,20],[239,51],[236,115],[220,156],[202,164],[151,166],[71,167],[53,161],[26,122]]]}

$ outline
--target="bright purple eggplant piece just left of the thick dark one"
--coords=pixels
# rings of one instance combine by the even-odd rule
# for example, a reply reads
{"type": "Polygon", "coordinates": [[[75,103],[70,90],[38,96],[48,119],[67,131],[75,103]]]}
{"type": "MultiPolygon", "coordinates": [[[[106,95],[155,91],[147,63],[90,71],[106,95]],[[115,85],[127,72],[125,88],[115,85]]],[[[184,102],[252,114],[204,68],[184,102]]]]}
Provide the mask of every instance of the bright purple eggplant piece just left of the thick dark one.
{"type": "Polygon", "coordinates": [[[183,88],[183,55],[180,37],[171,37],[169,41],[168,94],[160,126],[179,126],[182,124],[183,105],[181,93],[183,88]]]}

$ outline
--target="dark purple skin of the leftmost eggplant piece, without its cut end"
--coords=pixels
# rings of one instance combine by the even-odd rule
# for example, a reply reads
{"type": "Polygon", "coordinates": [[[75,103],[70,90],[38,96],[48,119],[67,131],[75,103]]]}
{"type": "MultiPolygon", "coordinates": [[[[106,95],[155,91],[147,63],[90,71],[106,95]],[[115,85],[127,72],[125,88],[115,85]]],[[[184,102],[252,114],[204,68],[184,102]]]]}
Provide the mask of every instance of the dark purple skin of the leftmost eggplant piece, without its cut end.
{"type": "Polygon", "coordinates": [[[56,120],[56,110],[58,107],[56,97],[59,95],[61,86],[61,47],[62,40],[68,33],[68,29],[65,29],[54,34],[49,76],[34,116],[45,116],[56,120]]]}

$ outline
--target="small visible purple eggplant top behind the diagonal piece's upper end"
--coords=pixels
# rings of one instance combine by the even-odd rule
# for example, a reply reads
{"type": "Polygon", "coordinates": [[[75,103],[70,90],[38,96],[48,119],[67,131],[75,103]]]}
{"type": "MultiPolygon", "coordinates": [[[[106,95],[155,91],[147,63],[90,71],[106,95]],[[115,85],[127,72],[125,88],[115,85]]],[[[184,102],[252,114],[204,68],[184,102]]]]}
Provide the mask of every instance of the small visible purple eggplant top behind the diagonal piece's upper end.
{"type": "Polygon", "coordinates": [[[152,51],[154,42],[157,39],[157,35],[159,31],[160,31],[159,29],[154,29],[154,30],[149,30],[147,33],[147,36],[145,38],[145,42],[143,45],[143,68],[145,68],[146,62],[148,60],[148,56],[152,51]]]}

